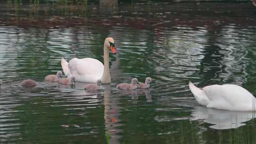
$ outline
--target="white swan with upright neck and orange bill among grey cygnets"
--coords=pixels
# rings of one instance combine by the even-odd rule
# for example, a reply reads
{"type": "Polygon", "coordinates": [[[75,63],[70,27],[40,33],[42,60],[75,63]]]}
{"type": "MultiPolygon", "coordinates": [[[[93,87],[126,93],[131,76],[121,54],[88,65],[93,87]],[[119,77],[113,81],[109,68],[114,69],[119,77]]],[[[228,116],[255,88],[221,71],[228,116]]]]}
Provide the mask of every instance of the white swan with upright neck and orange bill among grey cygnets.
{"type": "Polygon", "coordinates": [[[101,79],[102,83],[111,83],[109,53],[116,54],[114,39],[107,37],[104,42],[104,65],[93,58],[73,58],[66,62],[63,58],[61,66],[65,75],[73,75],[76,81],[96,83],[101,79]]]}

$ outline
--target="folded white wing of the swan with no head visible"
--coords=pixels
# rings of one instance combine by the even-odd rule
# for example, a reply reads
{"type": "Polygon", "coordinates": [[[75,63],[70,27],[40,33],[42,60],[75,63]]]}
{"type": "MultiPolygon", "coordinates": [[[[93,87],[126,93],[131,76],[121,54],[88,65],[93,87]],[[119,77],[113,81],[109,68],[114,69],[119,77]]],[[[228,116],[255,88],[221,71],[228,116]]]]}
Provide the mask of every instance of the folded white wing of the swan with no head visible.
{"type": "Polygon", "coordinates": [[[209,108],[252,110],[253,95],[238,85],[211,85],[204,87],[203,91],[210,100],[209,108]]]}

